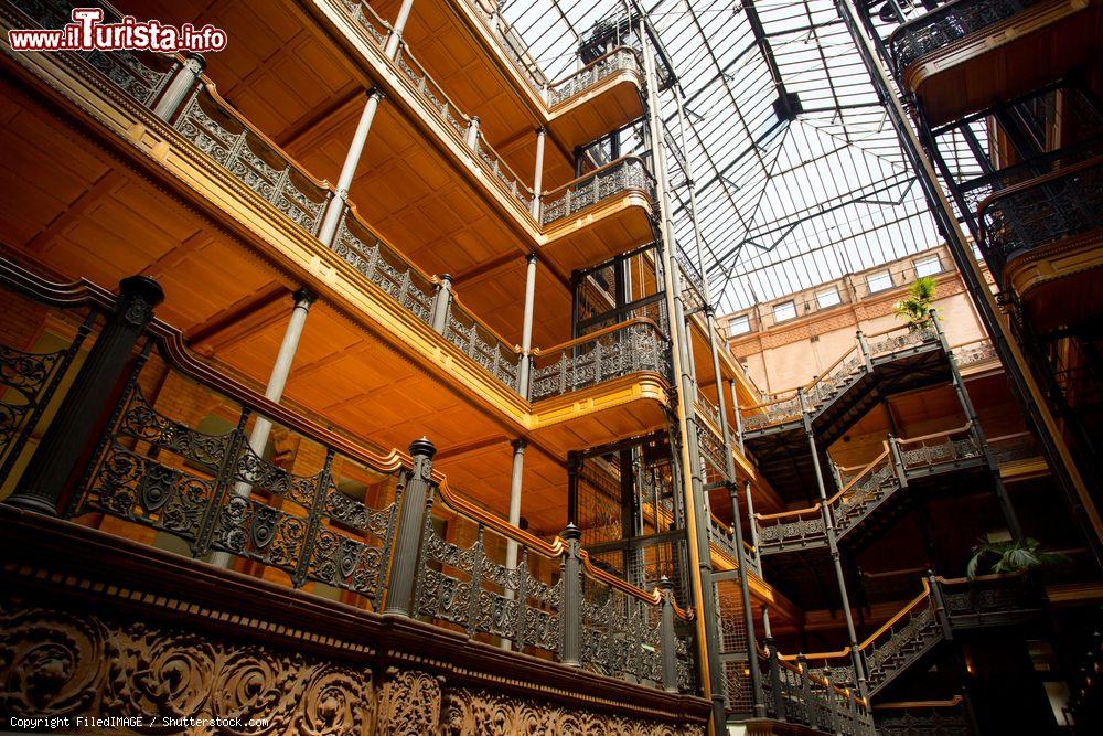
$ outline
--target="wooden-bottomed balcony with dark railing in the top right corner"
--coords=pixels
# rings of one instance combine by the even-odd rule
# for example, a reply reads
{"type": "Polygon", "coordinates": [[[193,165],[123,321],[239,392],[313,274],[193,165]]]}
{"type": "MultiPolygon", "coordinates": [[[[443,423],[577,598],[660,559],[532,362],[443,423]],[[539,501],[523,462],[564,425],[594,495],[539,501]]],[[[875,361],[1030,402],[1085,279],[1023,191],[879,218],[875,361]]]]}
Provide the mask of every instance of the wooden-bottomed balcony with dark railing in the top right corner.
{"type": "Polygon", "coordinates": [[[1099,0],[955,0],[900,25],[893,73],[936,126],[1097,66],[1099,0]]]}

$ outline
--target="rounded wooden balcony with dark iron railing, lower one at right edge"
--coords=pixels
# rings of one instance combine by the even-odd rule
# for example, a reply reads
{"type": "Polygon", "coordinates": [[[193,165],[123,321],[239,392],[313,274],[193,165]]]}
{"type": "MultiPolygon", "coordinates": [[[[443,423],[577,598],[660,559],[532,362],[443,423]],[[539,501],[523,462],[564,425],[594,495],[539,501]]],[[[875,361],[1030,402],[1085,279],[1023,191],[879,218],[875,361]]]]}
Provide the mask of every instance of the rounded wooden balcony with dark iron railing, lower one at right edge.
{"type": "Polygon", "coordinates": [[[978,207],[993,275],[1037,329],[1097,323],[1103,295],[1103,157],[995,191],[978,207]]]}

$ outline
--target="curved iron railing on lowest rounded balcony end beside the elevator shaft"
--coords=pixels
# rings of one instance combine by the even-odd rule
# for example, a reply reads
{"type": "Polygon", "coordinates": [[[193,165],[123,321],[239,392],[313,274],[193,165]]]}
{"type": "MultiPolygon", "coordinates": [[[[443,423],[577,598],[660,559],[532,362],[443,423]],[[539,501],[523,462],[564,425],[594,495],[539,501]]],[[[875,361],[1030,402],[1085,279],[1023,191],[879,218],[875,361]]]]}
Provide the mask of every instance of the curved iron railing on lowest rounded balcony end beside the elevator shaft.
{"type": "Polygon", "coordinates": [[[556,348],[533,351],[532,401],[632,373],[671,376],[666,335],[647,319],[631,319],[556,348]]]}

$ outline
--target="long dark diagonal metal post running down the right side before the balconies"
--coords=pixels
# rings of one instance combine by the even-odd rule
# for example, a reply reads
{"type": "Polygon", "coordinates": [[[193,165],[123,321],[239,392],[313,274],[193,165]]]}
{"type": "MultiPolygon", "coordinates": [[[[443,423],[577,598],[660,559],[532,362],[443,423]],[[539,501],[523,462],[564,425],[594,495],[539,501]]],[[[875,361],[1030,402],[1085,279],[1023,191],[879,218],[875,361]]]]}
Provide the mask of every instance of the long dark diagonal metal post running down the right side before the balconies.
{"type": "MultiPolygon", "coordinates": [[[[909,163],[911,163],[912,170],[923,188],[931,214],[934,216],[942,235],[946,238],[946,246],[962,274],[962,279],[965,281],[966,290],[981,316],[981,321],[992,337],[993,346],[1004,363],[1015,394],[1024,408],[1024,414],[1035,425],[1045,448],[1046,458],[1058,477],[1072,515],[1078,519],[1082,526],[1084,537],[1089,541],[1092,554],[1099,564],[1103,562],[1103,544],[1101,544],[1103,542],[1103,519],[1100,518],[1088,484],[1080,470],[1072,462],[1068,444],[1047,404],[1045,394],[1027,367],[1021,348],[1015,341],[1009,326],[999,316],[995,297],[985,281],[981,267],[973,257],[971,246],[961,230],[953,207],[942,191],[919,137],[907,120],[903,106],[897,99],[892,85],[870,46],[869,39],[859,26],[854,8],[847,0],[836,0],[835,6],[843,24],[854,40],[866,70],[869,72],[870,82],[877,89],[878,97],[885,104],[886,114],[900,140],[900,148],[908,157],[909,163]]],[[[876,29],[872,28],[872,23],[868,19],[866,31],[878,38],[879,42],[876,29]]]]}

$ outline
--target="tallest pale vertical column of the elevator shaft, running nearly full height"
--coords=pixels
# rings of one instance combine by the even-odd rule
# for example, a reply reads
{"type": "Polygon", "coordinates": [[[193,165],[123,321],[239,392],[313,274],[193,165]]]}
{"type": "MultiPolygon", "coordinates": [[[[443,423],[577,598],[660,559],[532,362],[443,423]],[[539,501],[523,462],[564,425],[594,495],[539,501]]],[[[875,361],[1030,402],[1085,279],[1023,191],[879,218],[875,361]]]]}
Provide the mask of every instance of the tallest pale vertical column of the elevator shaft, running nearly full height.
{"type": "Polygon", "coordinates": [[[646,31],[641,21],[640,36],[643,43],[643,65],[647,93],[647,118],[651,132],[651,150],[654,158],[655,186],[660,207],[660,237],[665,236],[662,248],[664,270],[666,273],[666,308],[671,317],[671,350],[677,380],[677,430],[682,436],[681,448],[683,471],[683,493],[685,497],[686,541],[690,559],[697,567],[690,575],[694,599],[697,602],[697,648],[698,661],[702,662],[702,691],[713,703],[713,722],[710,730],[718,735],[725,733],[725,696],[722,692],[724,674],[720,665],[719,628],[717,627],[716,596],[713,585],[713,562],[708,540],[708,502],[705,497],[704,483],[700,478],[700,458],[697,450],[696,412],[693,397],[696,392],[695,381],[690,373],[687,355],[686,326],[682,303],[682,285],[674,258],[674,238],[670,225],[670,202],[666,188],[666,164],[663,156],[663,137],[660,119],[658,84],[655,74],[655,58],[651,45],[646,42],[646,31]]]}

